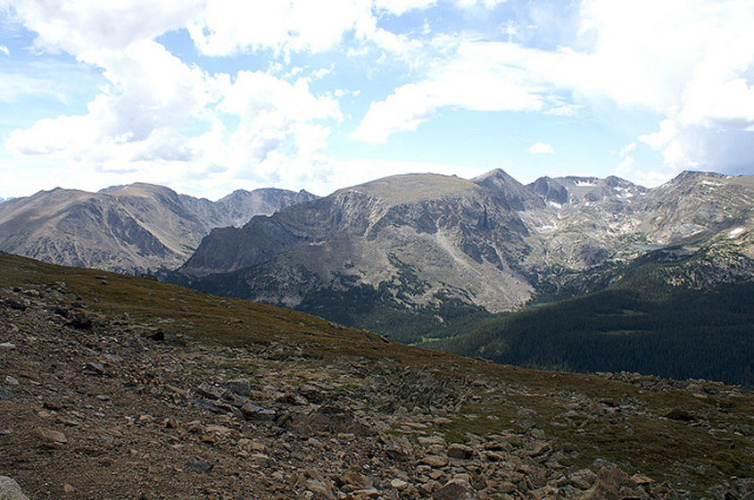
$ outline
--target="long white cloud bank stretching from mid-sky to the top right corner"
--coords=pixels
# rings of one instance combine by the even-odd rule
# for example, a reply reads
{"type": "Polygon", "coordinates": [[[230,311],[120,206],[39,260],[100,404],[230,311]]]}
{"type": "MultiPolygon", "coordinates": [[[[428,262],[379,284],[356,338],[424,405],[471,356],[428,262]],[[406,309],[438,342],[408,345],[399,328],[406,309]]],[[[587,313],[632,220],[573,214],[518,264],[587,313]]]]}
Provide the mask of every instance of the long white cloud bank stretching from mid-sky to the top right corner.
{"type": "Polygon", "coordinates": [[[451,40],[421,79],[373,103],[352,138],[384,142],[443,106],[559,116],[619,108],[662,117],[637,140],[674,171],[750,170],[742,158],[754,144],[752,20],[749,0],[584,0],[576,38],[557,49],[451,40]]]}

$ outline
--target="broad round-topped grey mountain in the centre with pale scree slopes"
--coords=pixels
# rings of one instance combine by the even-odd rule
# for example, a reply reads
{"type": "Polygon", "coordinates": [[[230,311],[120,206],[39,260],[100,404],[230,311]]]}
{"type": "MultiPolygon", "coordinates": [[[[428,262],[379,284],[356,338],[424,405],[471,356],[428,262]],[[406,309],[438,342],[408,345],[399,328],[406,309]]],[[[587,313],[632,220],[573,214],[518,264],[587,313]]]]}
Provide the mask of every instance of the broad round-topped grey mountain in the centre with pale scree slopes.
{"type": "Polygon", "coordinates": [[[173,279],[325,315],[332,310],[323,302],[361,303],[365,311],[351,313],[369,317],[374,323],[361,326],[378,330],[379,316],[388,312],[404,321],[421,311],[425,329],[442,329],[457,312],[443,316],[445,305],[476,313],[526,303],[532,288],[518,262],[530,250],[527,236],[492,190],[410,174],[255,217],[241,229],[216,229],[173,279]],[[376,309],[362,303],[364,294],[376,309]]]}

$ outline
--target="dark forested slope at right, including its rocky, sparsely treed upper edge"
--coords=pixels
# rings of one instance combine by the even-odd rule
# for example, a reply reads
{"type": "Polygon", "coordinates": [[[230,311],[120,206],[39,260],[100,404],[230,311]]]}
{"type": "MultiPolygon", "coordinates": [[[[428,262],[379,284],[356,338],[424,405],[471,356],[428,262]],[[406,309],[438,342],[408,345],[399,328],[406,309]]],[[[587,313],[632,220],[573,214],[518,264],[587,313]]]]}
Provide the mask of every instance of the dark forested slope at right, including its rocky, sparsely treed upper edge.
{"type": "Polygon", "coordinates": [[[481,321],[422,346],[520,366],[754,387],[754,259],[737,252],[745,245],[728,236],[654,250],[592,271],[592,287],[601,291],[481,321]]]}

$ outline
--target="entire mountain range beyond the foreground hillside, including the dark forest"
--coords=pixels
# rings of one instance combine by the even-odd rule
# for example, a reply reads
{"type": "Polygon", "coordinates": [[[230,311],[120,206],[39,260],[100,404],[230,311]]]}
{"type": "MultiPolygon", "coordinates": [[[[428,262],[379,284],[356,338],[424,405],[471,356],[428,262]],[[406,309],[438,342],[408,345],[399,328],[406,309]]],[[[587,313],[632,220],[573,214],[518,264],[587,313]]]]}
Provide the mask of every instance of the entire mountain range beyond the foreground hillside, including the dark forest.
{"type": "Polygon", "coordinates": [[[691,171],[652,189],[407,174],[218,202],[136,184],[7,201],[0,249],[496,362],[754,385],[752,207],[754,178],[691,171]]]}

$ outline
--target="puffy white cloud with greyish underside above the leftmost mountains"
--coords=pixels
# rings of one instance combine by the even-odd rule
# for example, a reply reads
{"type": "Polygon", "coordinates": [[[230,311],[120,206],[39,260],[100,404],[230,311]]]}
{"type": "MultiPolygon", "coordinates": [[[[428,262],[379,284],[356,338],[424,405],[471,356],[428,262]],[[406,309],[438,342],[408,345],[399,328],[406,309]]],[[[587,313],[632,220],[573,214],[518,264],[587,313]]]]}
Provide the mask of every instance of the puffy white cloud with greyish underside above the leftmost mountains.
{"type": "Polygon", "coordinates": [[[211,100],[203,72],[156,42],[134,42],[123,51],[103,51],[97,59],[110,85],[88,104],[86,115],[37,121],[13,132],[6,146],[21,154],[128,162],[143,154],[140,146],[153,149],[149,143],[164,137],[164,129],[198,119],[211,100]]]}

